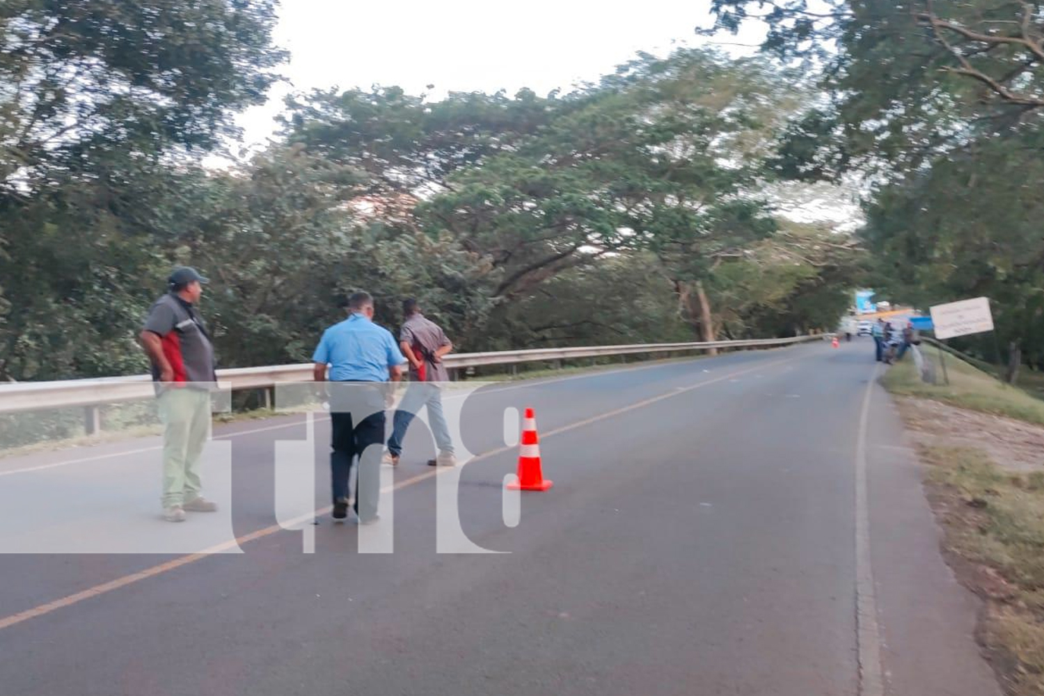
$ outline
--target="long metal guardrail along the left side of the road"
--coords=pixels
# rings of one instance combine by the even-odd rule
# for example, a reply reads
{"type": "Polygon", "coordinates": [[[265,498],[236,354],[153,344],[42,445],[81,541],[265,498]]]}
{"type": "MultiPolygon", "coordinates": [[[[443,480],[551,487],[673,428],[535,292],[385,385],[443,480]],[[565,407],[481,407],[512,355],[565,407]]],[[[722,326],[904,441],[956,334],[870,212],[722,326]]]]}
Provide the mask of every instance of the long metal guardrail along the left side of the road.
{"type": "MultiPolygon", "coordinates": [[[[637,343],[632,345],[596,345],[582,347],[533,349],[494,353],[461,353],[448,355],[443,363],[451,373],[481,365],[511,365],[546,360],[570,360],[602,356],[684,353],[711,349],[776,347],[810,340],[823,335],[796,338],[767,338],[738,341],[693,343],[637,343]]],[[[219,369],[219,388],[230,391],[275,387],[281,383],[307,382],[312,379],[312,363],[219,369]]],[[[18,382],[0,384],[0,413],[32,411],[48,408],[88,409],[88,430],[98,428],[98,405],[149,399],[155,395],[148,375],[109,377],[61,382],[18,382]]]]}

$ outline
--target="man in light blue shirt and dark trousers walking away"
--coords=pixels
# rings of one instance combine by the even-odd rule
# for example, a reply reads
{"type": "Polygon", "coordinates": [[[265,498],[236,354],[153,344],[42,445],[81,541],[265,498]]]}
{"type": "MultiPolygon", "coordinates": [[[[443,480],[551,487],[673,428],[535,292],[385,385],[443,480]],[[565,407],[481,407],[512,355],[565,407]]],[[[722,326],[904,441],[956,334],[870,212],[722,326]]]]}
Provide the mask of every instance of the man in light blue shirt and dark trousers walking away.
{"type": "Polygon", "coordinates": [[[326,330],[315,349],[316,382],[330,367],[330,476],[333,519],[348,517],[348,482],[358,458],[355,514],[359,524],[379,519],[381,448],[384,443],[384,383],[402,379],[403,357],[392,333],[374,323],[374,298],[357,292],[346,303],[349,317],[326,330]],[[374,447],[376,446],[376,447],[374,447]]]}

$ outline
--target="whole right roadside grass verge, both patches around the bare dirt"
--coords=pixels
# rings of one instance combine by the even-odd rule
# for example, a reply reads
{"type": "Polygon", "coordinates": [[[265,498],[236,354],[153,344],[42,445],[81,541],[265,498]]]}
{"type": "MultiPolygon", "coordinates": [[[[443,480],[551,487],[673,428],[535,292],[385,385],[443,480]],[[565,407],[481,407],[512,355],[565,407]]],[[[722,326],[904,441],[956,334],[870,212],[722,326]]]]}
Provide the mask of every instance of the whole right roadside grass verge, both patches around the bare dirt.
{"type": "MultiPolygon", "coordinates": [[[[936,361],[941,377],[938,351],[926,347],[925,358],[936,361]]],[[[1044,425],[1044,402],[950,356],[947,370],[950,384],[925,384],[914,361],[903,360],[888,368],[883,382],[896,394],[1044,425]]],[[[916,426],[912,421],[908,425],[916,426]]],[[[963,437],[969,435],[974,433],[963,437]]],[[[984,601],[978,639],[1005,692],[1041,696],[1044,469],[1015,472],[1000,459],[1011,455],[1010,448],[988,454],[955,438],[952,434],[919,447],[927,465],[925,490],[944,529],[944,551],[962,584],[984,601]]]]}

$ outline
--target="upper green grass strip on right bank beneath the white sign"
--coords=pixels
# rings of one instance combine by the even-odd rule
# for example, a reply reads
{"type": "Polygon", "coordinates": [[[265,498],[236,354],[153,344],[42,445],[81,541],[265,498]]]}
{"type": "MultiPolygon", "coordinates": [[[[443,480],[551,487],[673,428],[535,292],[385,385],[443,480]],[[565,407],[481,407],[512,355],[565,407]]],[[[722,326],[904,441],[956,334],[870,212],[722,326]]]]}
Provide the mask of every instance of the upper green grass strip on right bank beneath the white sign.
{"type": "Polygon", "coordinates": [[[1044,425],[1044,401],[1034,398],[1022,389],[1004,384],[994,376],[953,356],[945,358],[950,383],[942,384],[940,351],[930,345],[922,345],[921,350],[925,360],[934,363],[935,378],[940,384],[922,382],[911,356],[907,356],[884,374],[882,381],[888,391],[905,397],[932,399],[959,408],[1044,425]]]}

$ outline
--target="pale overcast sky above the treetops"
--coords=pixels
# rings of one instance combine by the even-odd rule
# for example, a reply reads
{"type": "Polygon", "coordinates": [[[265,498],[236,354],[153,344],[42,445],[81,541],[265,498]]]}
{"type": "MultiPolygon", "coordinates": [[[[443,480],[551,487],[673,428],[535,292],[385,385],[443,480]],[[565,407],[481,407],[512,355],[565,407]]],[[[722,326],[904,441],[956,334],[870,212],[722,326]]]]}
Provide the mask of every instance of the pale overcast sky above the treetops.
{"type": "MultiPolygon", "coordinates": [[[[276,43],[290,51],[289,85],[238,119],[264,142],[289,91],[398,85],[410,93],[544,95],[593,80],[634,57],[694,45],[709,0],[283,0],[276,43]]],[[[753,43],[750,37],[736,41],[753,43]]],[[[731,51],[741,51],[728,47],[731,51]]]]}

